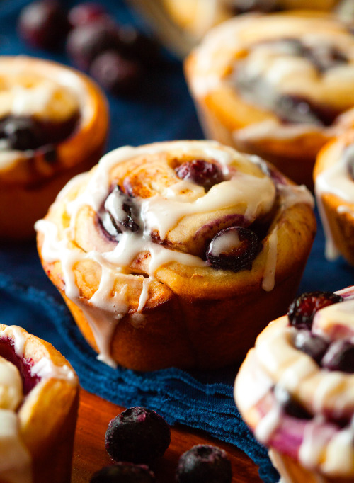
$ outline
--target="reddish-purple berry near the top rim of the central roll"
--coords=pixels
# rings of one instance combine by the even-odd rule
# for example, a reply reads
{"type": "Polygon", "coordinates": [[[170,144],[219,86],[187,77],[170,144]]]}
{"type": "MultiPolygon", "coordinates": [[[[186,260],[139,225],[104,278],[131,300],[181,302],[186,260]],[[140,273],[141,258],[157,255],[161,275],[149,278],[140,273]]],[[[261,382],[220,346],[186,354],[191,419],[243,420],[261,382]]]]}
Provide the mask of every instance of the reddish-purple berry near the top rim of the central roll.
{"type": "Polygon", "coordinates": [[[175,171],[178,178],[198,184],[205,188],[205,191],[209,191],[212,186],[224,181],[224,176],[219,166],[204,159],[187,161],[180,164],[175,171]]]}

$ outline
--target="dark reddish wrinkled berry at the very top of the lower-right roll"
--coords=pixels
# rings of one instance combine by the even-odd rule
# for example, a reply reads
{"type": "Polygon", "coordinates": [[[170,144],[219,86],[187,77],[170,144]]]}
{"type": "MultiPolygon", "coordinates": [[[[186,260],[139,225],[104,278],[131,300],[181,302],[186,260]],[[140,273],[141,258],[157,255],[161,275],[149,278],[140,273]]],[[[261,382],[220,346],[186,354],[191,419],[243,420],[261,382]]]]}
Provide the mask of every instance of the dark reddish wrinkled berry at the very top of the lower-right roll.
{"type": "Polygon", "coordinates": [[[287,317],[297,329],[311,329],[314,314],[327,305],[343,302],[343,297],[332,292],[309,292],[297,297],[289,306],[287,317]]]}

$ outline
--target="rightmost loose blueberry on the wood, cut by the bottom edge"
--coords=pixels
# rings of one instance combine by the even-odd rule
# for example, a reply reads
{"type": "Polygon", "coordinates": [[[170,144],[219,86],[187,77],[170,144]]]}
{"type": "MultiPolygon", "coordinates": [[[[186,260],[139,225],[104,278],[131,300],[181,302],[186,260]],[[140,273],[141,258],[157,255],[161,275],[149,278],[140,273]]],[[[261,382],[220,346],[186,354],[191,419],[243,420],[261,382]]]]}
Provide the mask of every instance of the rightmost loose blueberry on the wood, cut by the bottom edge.
{"type": "Polygon", "coordinates": [[[224,450],[196,445],[183,453],[176,470],[178,483],[230,483],[232,467],[224,450]]]}

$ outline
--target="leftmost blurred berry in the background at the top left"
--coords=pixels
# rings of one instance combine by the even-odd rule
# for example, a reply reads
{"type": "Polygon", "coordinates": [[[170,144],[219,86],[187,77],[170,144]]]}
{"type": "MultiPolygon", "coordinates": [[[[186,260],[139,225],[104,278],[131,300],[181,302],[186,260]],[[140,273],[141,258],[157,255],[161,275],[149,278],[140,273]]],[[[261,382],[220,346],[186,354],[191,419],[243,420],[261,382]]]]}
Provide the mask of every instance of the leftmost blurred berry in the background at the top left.
{"type": "Polygon", "coordinates": [[[18,18],[18,33],[33,47],[56,49],[69,32],[67,15],[59,1],[40,0],[25,6],[18,18]]]}

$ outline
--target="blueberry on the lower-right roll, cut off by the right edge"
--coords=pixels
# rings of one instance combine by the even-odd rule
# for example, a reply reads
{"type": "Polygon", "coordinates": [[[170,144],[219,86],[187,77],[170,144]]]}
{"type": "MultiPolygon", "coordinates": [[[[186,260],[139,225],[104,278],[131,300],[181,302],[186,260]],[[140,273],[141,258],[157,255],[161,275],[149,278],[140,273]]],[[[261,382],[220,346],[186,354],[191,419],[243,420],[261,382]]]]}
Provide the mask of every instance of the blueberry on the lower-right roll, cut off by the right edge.
{"type": "Polygon", "coordinates": [[[344,340],[334,341],[321,360],[321,365],[329,370],[341,370],[343,373],[353,374],[354,344],[344,340]]]}

